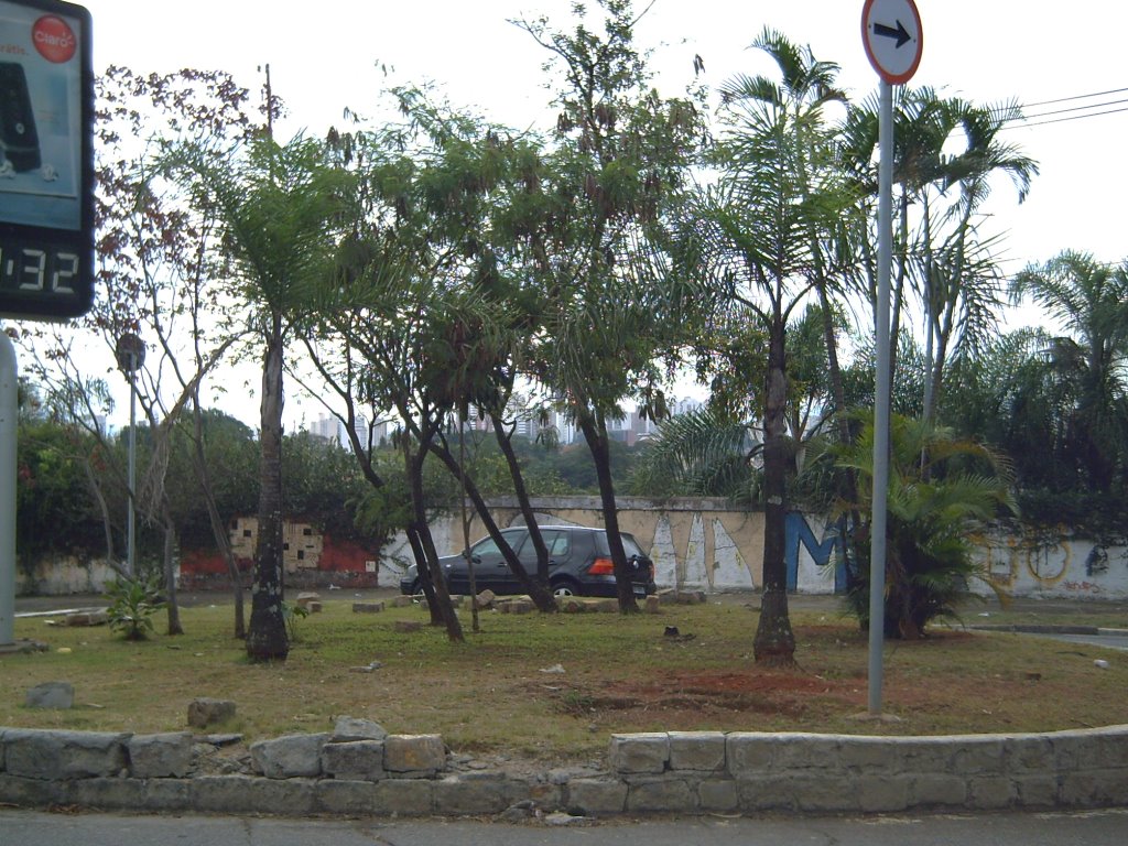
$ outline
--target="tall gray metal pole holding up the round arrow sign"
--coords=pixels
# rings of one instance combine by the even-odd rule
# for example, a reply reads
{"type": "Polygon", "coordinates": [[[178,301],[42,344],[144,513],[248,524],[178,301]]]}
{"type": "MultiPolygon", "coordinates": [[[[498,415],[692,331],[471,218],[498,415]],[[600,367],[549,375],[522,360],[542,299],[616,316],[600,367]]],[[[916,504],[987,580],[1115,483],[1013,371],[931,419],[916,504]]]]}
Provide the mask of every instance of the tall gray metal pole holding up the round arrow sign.
{"type": "Polygon", "coordinates": [[[873,515],[870,521],[870,714],[881,714],[885,635],[885,510],[889,504],[889,276],[893,254],[893,87],[881,82],[878,124],[876,386],[873,399],[873,515]]]}

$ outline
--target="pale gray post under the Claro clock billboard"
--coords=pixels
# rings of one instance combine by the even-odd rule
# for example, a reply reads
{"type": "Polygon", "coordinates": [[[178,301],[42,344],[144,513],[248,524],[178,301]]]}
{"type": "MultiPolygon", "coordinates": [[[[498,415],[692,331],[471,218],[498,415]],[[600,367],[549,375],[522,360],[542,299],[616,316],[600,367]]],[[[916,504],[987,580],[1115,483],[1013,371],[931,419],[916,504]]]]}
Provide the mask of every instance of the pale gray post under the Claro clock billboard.
{"type": "Polygon", "coordinates": [[[0,646],[16,642],[16,347],[0,326],[0,646]]]}

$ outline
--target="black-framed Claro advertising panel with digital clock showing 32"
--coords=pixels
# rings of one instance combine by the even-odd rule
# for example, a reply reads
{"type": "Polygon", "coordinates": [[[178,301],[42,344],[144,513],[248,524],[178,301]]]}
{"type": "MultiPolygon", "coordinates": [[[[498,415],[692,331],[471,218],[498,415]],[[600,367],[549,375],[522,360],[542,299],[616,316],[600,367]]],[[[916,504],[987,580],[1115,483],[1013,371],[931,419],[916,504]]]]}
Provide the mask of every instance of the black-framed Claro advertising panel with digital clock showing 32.
{"type": "Polygon", "coordinates": [[[0,0],[0,317],[89,310],[92,232],[90,14],[0,0]]]}

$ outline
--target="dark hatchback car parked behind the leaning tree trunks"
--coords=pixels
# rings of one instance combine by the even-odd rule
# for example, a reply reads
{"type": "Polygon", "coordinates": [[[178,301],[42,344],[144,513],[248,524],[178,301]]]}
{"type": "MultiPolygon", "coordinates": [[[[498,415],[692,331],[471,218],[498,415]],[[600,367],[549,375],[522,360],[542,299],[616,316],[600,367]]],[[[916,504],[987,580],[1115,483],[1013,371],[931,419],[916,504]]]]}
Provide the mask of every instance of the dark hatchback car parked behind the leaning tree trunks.
{"type": "MultiPolygon", "coordinates": [[[[548,576],[557,597],[615,597],[615,573],[611,553],[607,546],[607,531],[579,526],[546,526],[540,529],[548,547],[548,576]]],[[[517,553],[530,576],[537,574],[537,553],[527,528],[505,529],[502,536],[517,553]]],[[[631,535],[620,534],[631,565],[635,596],[653,593],[654,564],[631,535]]],[[[499,596],[523,593],[517,576],[492,538],[479,540],[470,547],[474,562],[474,583],[478,591],[492,590],[499,596]]],[[[465,555],[439,558],[447,576],[447,589],[455,594],[470,592],[469,570],[465,555]]],[[[399,580],[399,590],[406,594],[422,590],[418,572],[413,564],[399,580]]]]}

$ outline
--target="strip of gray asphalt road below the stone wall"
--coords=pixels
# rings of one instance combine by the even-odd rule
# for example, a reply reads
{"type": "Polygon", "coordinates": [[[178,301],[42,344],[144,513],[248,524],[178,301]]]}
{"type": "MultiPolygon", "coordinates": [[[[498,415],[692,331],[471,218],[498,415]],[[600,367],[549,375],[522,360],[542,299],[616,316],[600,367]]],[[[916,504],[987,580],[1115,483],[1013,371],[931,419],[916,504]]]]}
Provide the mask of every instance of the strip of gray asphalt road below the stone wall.
{"type": "Polygon", "coordinates": [[[0,809],[3,846],[1122,846],[1128,809],[976,816],[488,821],[130,817],[0,809]]]}

